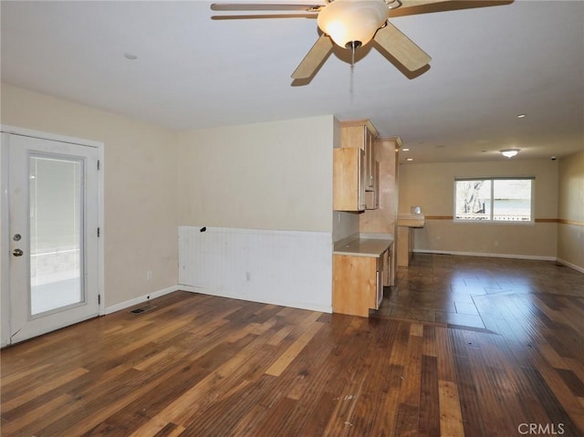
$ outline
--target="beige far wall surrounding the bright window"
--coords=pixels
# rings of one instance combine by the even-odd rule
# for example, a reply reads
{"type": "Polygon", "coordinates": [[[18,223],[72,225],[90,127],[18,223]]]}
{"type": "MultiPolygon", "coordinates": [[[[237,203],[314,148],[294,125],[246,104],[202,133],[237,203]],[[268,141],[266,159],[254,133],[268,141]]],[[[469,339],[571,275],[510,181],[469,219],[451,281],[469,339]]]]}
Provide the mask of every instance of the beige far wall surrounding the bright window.
{"type": "Polygon", "coordinates": [[[428,217],[414,231],[414,250],[469,255],[557,255],[558,161],[449,162],[400,166],[399,212],[422,206],[428,217]],[[454,178],[534,176],[536,224],[454,223],[454,178]],[[550,222],[542,221],[551,219],[550,222]]]}

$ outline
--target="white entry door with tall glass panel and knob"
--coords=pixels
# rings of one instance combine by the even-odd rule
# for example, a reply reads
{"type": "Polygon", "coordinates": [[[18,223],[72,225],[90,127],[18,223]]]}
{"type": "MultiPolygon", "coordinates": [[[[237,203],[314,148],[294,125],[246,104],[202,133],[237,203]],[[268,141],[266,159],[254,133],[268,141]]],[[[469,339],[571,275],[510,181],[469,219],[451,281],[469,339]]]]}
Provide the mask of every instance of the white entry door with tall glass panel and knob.
{"type": "Polygon", "coordinates": [[[99,315],[99,149],[5,134],[9,343],[99,315]]]}

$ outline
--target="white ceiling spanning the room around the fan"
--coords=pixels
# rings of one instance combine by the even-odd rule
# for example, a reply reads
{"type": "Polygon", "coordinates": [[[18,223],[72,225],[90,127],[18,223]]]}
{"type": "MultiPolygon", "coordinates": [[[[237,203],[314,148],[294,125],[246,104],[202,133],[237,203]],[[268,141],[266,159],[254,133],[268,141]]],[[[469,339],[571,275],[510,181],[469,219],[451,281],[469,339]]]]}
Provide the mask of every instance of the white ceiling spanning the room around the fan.
{"type": "Polygon", "coordinates": [[[176,130],[370,119],[414,162],[584,149],[583,1],[395,16],[433,57],[429,69],[408,78],[374,47],[351,69],[338,49],[305,85],[290,74],[318,38],[316,20],[212,20],[210,4],[2,1],[2,80],[176,130]]]}

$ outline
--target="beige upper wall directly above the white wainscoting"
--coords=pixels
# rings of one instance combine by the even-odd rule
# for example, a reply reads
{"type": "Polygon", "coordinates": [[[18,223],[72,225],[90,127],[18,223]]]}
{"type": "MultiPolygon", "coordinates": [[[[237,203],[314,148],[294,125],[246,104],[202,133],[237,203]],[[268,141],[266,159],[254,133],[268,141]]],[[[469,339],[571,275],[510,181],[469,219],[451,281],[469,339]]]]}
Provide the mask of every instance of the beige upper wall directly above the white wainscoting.
{"type": "Polygon", "coordinates": [[[332,231],[332,116],[179,134],[179,224],[332,231]]]}

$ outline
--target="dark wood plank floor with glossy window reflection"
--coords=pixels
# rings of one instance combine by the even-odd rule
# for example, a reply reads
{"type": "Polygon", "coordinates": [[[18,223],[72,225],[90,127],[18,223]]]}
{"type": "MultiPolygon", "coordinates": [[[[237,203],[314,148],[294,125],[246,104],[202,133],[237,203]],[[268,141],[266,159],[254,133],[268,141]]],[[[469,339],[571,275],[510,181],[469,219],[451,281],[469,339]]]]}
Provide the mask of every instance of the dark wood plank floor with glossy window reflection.
{"type": "Polygon", "coordinates": [[[416,255],[369,319],[152,304],[3,350],[2,435],[584,435],[568,267],[416,255]]]}

